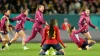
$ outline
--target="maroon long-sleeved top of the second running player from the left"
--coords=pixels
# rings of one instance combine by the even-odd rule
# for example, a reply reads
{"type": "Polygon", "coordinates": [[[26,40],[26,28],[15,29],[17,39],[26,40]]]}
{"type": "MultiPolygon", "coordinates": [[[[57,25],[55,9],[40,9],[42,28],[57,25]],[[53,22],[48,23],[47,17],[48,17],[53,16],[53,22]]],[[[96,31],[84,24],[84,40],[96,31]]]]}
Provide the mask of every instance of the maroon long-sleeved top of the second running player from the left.
{"type": "Polygon", "coordinates": [[[12,20],[17,20],[16,27],[15,27],[17,30],[24,29],[24,24],[26,20],[34,22],[33,19],[28,18],[24,13],[21,13],[20,15],[18,15],[16,18],[13,18],[12,20]]]}

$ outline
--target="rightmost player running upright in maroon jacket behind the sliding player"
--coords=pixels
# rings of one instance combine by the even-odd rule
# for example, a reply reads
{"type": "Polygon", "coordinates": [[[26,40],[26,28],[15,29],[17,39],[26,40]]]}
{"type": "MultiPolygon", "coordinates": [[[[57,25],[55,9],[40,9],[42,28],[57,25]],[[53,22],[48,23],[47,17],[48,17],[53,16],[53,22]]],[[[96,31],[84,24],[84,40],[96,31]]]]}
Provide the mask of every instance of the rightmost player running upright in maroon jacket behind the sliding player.
{"type": "Polygon", "coordinates": [[[89,26],[91,26],[92,28],[98,29],[98,27],[94,26],[91,21],[90,21],[90,10],[89,9],[85,9],[84,11],[82,11],[81,16],[80,16],[80,20],[78,22],[78,26],[81,29],[83,27],[83,25],[87,23],[86,27],[81,31],[81,33],[86,36],[87,39],[91,39],[91,35],[88,31],[89,26]]]}

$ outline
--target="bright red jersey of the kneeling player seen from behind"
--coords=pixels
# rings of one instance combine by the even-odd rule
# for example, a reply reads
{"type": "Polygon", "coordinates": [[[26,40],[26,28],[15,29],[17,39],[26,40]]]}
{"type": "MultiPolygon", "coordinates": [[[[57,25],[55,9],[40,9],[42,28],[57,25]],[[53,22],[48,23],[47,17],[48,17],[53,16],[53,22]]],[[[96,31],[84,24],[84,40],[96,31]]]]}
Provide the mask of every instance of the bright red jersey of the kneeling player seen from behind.
{"type": "Polygon", "coordinates": [[[54,37],[52,39],[49,38],[49,26],[46,26],[43,30],[43,39],[42,43],[43,44],[58,44],[59,42],[64,46],[64,43],[60,39],[60,30],[57,26],[54,26],[54,37]]]}

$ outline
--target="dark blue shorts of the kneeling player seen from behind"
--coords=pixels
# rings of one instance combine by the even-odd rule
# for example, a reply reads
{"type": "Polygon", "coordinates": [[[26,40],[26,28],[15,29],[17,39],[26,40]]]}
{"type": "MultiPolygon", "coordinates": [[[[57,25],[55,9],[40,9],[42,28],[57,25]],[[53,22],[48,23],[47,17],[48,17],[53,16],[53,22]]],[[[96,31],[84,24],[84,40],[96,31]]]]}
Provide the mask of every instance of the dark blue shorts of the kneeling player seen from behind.
{"type": "Polygon", "coordinates": [[[43,49],[44,51],[47,51],[47,50],[49,50],[51,47],[52,47],[53,49],[57,50],[57,51],[59,51],[59,50],[62,49],[62,47],[61,47],[59,44],[44,44],[43,47],[42,47],[42,49],[43,49]]]}

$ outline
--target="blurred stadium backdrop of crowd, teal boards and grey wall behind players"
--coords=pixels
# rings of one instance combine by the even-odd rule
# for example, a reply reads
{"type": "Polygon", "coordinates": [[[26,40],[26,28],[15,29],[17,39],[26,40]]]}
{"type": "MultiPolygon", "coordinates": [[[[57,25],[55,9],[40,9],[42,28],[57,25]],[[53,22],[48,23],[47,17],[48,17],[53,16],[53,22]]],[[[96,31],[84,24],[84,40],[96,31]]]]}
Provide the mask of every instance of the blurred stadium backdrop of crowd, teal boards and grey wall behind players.
{"type": "MultiPolygon", "coordinates": [[[[20,12],[27,8],[29,10],[29,17],[34,19],[36,7],[40,4],[45,6],[44,19],[49,23],[51,18],[58,20],[58,26],[61,29],[61,38],[63,41],[71,41],[67,31],[62,29],[64,18],[68,19],[71,25],[74,25],[78,29],[78,21],[80,18],[80,10],[83,7],[90,9],[91,21],[95,26],[100,29],[100,0],[0,0],[0,18],[3,16],[4,9],[11,9],[12,13],[10,18],[14,18],[20,14],[20,12]]],[[[11,22],[13,26],[16,22],[11,22]]],[[[26,22],[25,30],[27,37],[30,36],[32,26],[34,23],[26,22]]],[[[89,29],[92,35],[92,39],[100,41],[100,31],[89,29]]],[[[13,38],[13,35],[10,35],[13,38]]],[[[32,41],[40,42],[41,36],[37,34],[36,38],[32,41]]],[[[21,41],[19,38],[18,41],[21,41]]]]}

